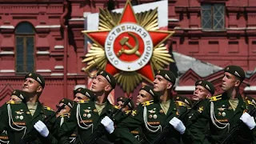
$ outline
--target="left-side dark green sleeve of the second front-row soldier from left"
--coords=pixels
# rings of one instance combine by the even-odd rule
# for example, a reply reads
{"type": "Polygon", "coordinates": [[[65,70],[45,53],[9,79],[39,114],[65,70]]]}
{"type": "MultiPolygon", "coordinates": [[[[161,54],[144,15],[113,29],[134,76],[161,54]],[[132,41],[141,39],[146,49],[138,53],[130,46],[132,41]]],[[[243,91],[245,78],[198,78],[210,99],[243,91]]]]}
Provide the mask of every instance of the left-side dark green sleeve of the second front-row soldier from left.
{"type": "Polygon", "coordinates": [[[58,129],[58,138],[59,138],[59,144],[65,144],[69,143],[70,135],[74,132],[75,128],[77,127],[76,122],[76,107],[77,105],[74,105],[73,109],[70,110],[70,118],[62,123],[62,126],[58,129]]]}

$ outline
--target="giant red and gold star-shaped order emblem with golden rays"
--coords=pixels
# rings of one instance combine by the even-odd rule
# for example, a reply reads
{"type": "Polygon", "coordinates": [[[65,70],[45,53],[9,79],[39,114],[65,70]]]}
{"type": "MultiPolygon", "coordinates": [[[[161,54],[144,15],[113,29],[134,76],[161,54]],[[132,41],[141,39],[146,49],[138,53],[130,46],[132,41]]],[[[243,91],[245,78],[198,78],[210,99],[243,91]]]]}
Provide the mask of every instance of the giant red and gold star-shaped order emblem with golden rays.
{"type": "Polygon", "coordinates": [[[82,31],[92,41],[82,60],[90,77],[106,70],[130,94],[143,80],[153,82],[154,71],[174,62],[165,43],[174,32],[158,27],[157,6],[135,14],[127,0],[122,13],[100,10],[98,18],[98,30],[82,31]]]}

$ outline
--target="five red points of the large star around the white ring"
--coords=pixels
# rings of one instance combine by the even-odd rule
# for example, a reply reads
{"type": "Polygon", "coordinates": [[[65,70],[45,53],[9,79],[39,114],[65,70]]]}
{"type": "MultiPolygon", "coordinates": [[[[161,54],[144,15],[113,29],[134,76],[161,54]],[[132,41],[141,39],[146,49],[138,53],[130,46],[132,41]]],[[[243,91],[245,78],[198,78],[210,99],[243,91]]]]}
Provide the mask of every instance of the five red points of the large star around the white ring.
{"type": "MultiPolygon", "coordinates": [[[[138,20],[134,14],[134,10],[130,4],[129,1],[126,2],[126,6],[122,12],[122,17],[120,18],[119,24],[122,23],[138,23],[138,20]]],[[[108,34],[110,33],[110,30],[105,30],[105,31],[90,31],[86,32],[86,35],[91,38],[94,42],[97,42],[98,45],[104,47],[106,38],[108,34]]],[[[150,34],[150,37],[152,39],[154,47],[158,46],[159,44],[162,43],[163,40],[166,38],[170,37],[170,32],[169,31],[157,31],[157,30],[152,30],[148,31],[150,34]]],[[[140,45],[141,49],[144,49],[140,45]]],[[[135,56],[134,56],[135,57],[135,56]]],[[[114,67],[110,62],[107,62],[106,64],[106,71],[109,72],[110,74],[118,74],[120,70],[118,70],[116,67],[114,67]]],[[[150,66],[150,62],[146,64],[146,66],[143,66],[141,69],[137,70],[138,74],[141,74],[143,78],[145,78],[147,81],[153,82],[154,81],[154,70],[152,69],[152,66],[150,66]]]]}

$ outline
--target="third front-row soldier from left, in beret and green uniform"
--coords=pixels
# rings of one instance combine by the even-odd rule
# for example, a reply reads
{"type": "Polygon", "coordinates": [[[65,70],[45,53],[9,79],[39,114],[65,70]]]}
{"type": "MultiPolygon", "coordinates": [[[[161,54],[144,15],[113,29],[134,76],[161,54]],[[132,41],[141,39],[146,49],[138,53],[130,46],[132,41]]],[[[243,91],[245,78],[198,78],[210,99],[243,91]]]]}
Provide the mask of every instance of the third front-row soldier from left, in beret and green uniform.
{"type": "MultiPolygon", "coordinates": [[[[162,128],[169,125],[171,119],[186,110],[185,105],[178,106],[182,102],[174,102],[174,98],[172,98],[171,90],[175,81],[176,77],[170,70],[158,70],[154,79],[154,90],[150,90],[150,94],[152,92],[154,97],[159,98],[159,101],[142,102],[129,118],[118,124],[115,134],[122,139],[123,143],[140,143],[130,134],[130,130],[134,130],[138,126],[142,126],[145,143],[152,142],[161,133],[162,128]],[[154,91],[157,91],[158,94],[154,91]]],[[[184,126],[182,130],[171,131],[166,135],[164,142],[179,142],[180,135],[185,130],[184,126]]]]}

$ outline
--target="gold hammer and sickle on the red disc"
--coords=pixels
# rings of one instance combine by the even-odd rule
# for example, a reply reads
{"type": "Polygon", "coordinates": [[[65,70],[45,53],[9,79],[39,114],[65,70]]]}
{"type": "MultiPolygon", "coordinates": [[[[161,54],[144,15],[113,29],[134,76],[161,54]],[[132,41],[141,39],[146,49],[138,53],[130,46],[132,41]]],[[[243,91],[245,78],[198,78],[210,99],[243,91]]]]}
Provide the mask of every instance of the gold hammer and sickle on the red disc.
{"type": "Polygon", "coordinates": [[[141,56],[140,52],[138,51],[138,38],[131,33],[128,33],[132,38],[134,38],[135,41],[135,46],[131,46],[129,41],[129,37],[123,37],[119,43],[121,44],[121,46],[127,46],[129,47],[130,50],[125,50],[123,47],[121,50],[118,51],[117,56],[120,57],[122,53],[124,54],[136,54],[138,57],[141,56]]]}

